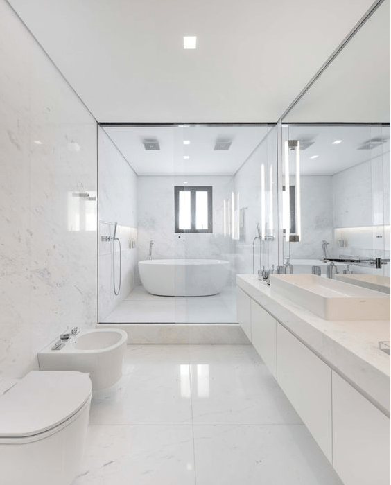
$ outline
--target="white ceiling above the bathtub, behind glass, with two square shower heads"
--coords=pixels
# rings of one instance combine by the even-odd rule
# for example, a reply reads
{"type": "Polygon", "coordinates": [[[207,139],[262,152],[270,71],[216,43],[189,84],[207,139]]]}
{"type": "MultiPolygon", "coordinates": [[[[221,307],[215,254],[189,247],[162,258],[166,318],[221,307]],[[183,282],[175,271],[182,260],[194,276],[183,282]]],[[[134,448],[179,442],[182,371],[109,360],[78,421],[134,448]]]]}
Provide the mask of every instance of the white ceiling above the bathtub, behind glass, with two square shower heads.
{"type": "Polygon", "coordinates": [[[263,140],[267,126],[106,126],[137,175],[234,175],[263,140]],[[143,140],[159,141],[146,150],[143,140]],[[216,141],[232,141],[229,150],[214,150],[216,141]],[[184,145],[184,141],[190,141],[184,145]],[[184,157],[189,159],[184,159],[184,157]]]}

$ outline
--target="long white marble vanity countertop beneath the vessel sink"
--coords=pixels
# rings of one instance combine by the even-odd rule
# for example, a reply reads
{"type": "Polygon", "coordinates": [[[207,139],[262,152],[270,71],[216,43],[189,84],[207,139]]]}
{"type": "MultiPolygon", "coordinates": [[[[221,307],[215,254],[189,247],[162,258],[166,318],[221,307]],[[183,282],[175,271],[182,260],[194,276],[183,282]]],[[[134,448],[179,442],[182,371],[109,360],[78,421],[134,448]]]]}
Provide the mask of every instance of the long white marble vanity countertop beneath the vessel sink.
{"type": "Polygon", "coordinates": [[[380,340],[390,340],[389,320],[327,321],[281,296],[254,274],[239,274],[236,283],[390,416],[390,355],[378,348],[380,340]]]}

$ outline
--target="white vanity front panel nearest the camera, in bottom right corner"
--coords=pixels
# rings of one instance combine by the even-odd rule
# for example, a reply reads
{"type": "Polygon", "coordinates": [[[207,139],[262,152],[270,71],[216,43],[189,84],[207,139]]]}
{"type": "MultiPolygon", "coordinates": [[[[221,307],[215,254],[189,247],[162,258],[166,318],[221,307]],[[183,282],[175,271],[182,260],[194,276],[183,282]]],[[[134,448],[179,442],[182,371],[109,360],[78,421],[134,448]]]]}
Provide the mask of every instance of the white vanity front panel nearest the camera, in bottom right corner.
{"type": "Polygon", "coordinates": [[[345,485],[390,485],[390,419],[334,371],[333,467],[345,485]]]}

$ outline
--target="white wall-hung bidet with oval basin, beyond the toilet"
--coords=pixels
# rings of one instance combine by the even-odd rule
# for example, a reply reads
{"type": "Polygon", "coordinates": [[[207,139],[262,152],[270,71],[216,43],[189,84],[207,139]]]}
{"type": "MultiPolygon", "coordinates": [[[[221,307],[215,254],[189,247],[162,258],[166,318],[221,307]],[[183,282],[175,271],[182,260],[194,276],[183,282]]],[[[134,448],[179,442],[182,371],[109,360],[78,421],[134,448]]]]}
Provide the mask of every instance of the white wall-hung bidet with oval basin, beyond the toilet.
{"type": "Polygon", "coordinates": [[[53,342],[38,352],[40,371],[88,372],[92,389],[105,389],[122,376],[123,353],[128,334],[119,328],[80,330],[60,350],[53,342]]]}

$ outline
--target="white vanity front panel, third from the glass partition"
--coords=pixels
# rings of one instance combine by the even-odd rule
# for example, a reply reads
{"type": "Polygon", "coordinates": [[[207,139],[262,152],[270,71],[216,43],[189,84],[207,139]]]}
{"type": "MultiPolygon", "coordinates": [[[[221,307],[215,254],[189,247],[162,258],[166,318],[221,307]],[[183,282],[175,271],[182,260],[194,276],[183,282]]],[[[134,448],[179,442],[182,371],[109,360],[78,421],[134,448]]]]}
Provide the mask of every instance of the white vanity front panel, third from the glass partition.
{"type": "Polygon", "coordinates": [[[331,369],[277,324],[277,382],[332,461],[331,369]]]}

